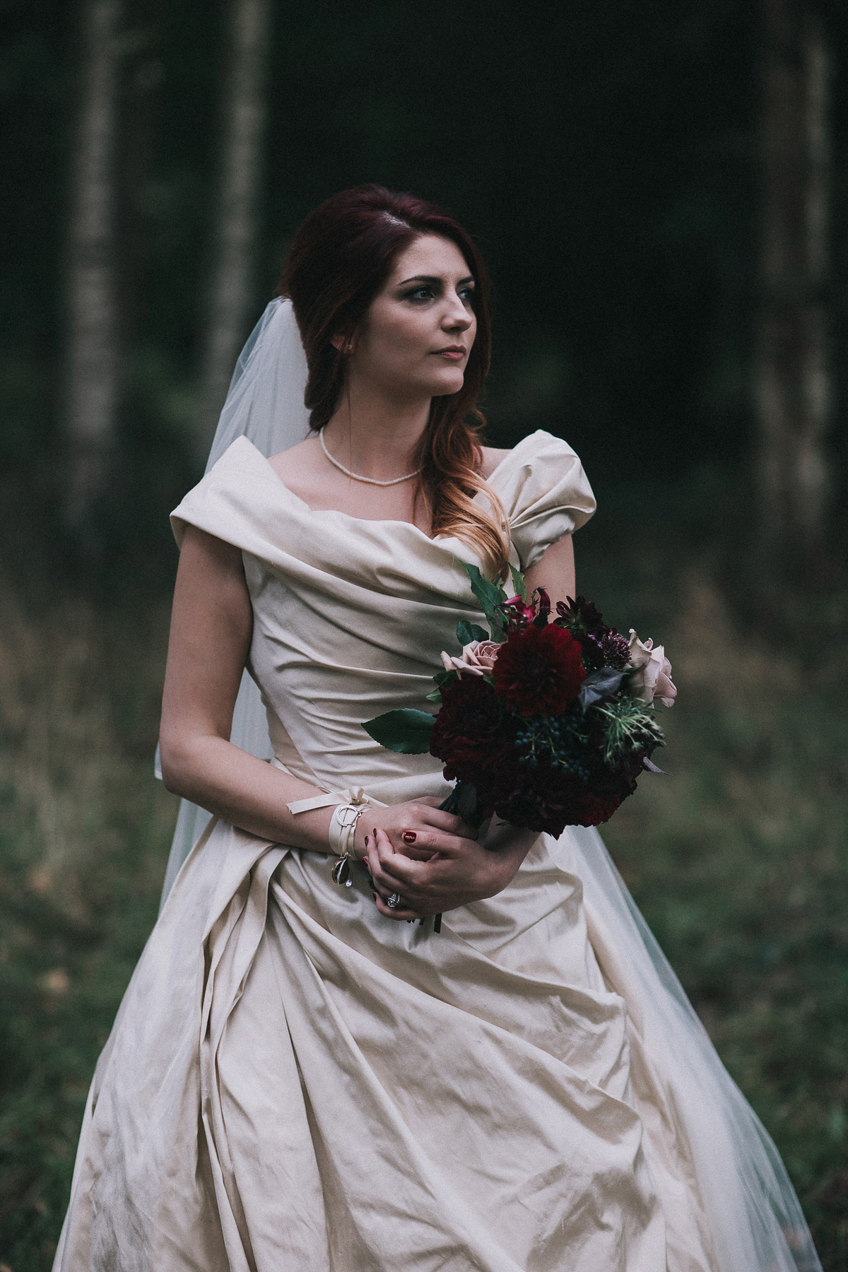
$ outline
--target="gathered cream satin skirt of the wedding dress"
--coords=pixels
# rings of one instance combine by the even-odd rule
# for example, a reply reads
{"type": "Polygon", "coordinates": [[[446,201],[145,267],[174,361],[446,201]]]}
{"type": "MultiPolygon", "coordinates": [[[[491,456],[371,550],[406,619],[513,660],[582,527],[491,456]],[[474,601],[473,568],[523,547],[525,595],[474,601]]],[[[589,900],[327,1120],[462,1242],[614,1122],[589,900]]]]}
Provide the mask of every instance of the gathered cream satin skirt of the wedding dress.
{"type": "MultiPolygon", "coordinates": [[[[746,1235],[730,1096],[646,1001],[633,920],[585,901],[591,852],[540,836],[435,934],[212,822],[99,1060],[55,1272],[804,1266],[746,1235]]],[[[802,1221],[760,1208],[788,1252],[802,1221]]]]}

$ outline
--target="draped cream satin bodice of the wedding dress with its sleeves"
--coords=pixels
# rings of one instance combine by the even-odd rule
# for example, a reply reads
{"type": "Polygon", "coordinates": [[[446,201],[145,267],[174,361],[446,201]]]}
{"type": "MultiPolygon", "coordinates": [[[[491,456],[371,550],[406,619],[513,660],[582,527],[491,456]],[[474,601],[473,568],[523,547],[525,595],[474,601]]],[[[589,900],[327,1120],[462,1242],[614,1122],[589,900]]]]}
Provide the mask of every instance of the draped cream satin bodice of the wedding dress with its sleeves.
{"type": "MultiPolygon", "coordinates": [[[[575,452],[542,431],[519,443],[488,485],[523,570],[595,509],[575,452]]],[[[242,550],[254,616],[249,669],[277,759],[331,791],[355,780],[386,804],[444,798],[437,759],[385,750],[362,722],[427,709],[458,621],[483,621],[462,566],[482,565],[475,550],[407,522],[315,511],[247,438],[188,492],[172,524],[178,542],[192,524],[242,550]]]]}

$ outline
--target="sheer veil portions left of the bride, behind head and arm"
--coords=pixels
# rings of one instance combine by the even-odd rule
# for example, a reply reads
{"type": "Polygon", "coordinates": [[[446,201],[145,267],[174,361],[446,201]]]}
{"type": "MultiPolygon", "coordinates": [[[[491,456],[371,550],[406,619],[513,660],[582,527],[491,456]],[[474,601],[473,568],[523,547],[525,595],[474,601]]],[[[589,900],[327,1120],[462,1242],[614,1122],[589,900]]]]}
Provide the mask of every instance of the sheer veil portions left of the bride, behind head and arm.
{"type": "MultiPolygon", "coordinates": [[[[215,430],[206,472],[221,458],[236,438],[248,438],[263,455],[303,441],[309,431],[309,411],[304,406],[306,356],[300,343],[291,300],[272,300],[235,364],[224,410],[215,430]]],[[[259,691],[244,672],[233,712],[230,742],[259,759],[271,759],[271,739],[259,691]]],[[[161,777],[156,750],[156,777],[161,777]]],[[[197,842],[210,814],[184,799],[179,804],[177,828],[170,845],[160,908],[179,868],[197,842]]]]}

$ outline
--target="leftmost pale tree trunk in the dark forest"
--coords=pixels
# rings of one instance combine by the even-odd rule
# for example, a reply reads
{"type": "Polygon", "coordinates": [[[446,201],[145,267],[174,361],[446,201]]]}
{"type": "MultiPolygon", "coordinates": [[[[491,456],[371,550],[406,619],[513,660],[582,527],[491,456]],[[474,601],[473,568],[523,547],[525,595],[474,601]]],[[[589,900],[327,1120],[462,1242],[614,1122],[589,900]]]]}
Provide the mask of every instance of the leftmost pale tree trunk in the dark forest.
{"type": "Polygon", "coordinates": [[[121,0],[88,0],[69,251],[66,520],[83,525],[108,480],[118,397],[114,159],[121,0]]]}

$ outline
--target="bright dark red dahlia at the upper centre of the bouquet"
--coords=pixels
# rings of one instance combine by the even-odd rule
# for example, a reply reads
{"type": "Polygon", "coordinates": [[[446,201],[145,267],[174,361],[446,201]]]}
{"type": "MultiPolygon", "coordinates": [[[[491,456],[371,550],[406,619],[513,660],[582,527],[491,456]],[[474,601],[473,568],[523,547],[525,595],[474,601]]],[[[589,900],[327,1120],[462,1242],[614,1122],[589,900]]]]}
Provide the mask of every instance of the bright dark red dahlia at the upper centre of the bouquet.
{"type": "Polygon", "coordinates": [[[511,632],[495,660],[495,687],[519,715],[562,715],[586,678],[581,654],[553,623],[511,632]]]}

